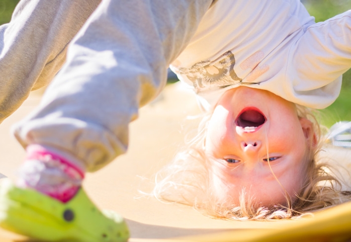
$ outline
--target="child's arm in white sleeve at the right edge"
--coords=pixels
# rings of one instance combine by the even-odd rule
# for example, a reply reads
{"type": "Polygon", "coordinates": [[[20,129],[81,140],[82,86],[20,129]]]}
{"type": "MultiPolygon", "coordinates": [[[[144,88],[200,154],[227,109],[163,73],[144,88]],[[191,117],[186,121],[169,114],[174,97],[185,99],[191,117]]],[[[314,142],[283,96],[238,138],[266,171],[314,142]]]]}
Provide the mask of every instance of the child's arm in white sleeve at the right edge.
{"type": "Polygon", "coordinates": [[[290,53],[287,76],[295,77],[295,92],[312,93],[316,108],[330,105],[351,67],[351,11],[309,26],[290,53]]]}

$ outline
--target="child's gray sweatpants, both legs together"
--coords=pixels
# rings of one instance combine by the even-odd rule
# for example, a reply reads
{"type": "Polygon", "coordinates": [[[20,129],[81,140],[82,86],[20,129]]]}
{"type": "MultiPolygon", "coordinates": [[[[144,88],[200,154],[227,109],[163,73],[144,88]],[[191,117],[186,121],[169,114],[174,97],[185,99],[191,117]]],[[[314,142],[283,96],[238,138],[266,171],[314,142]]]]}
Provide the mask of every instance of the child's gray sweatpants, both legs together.
{"type": "Polygon", "coordinates": [[[0,121],[54,78],[67,51],[14,133],[23,147],[40,144],[87,171],[126,151],[128,124],[162,90],[212,2],[99,1],[22,0],[0,27],[0,121]]]}

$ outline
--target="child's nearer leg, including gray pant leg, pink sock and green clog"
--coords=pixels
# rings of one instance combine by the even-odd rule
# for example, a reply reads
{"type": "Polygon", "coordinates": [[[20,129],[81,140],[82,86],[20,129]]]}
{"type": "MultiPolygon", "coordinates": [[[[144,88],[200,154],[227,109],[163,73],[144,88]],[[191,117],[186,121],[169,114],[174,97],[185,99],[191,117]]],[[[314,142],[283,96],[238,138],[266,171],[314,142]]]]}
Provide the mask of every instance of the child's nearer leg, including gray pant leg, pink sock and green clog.
{"type": "MultiPolygon", "coordinates": [[[[82,195],[81,188],[76,192],[76,187],[84,171],[97,170],[125,152],[129,122],[137,117],[139,106],[154,98],[166,84],[168,65],[189,42],[211,2],[103,0],[70,45],[67,62],[49,85],[39,108],[15,128],[16,138],[28,148],[28,163],[20,180],[24,188],[10,187],[4,192],[5,201],[11,206],[13,202],[25,204],[23,208],[30,211],[24,212],[35,215],[32,217],[55,213],[50,208],[59,207],[64,211],[61,220],[50,220],[45,228],[66,229],[66,234],[60,234],[66,237],[61,239],[90,241],[85,233],[99,236],[101,224],[106,225],[104,230],[120,230],[119,234],[113,232],[110,241],[125,239],[123,223],[113,226],[100,222],[96,208],[82,195]],[[54,179],[50,173],[55,174],[54,179]],[[39,208],[41,200],[48,206],[39,208]],[[89,205],[80,206],[80,202],[89,205]],[[71,205],[74,211],[66,213],[71,205]],[[72,213],[76,212],[87,219],[71,226],[75,218],[72,213]],[[85,232],[70,237],[68,228],[85,228],[85,232]]],[[[17,213],[22,213],[20,208],[13,206],[17,213]]],[[[11,209],[5,210],[9,218],[11,209]]],[[[5,226],[54,240],[52,235],[44,235],[39,222],[28,222],[36,228],[30,231],[19,228],[21,223],[5,226]]]]}

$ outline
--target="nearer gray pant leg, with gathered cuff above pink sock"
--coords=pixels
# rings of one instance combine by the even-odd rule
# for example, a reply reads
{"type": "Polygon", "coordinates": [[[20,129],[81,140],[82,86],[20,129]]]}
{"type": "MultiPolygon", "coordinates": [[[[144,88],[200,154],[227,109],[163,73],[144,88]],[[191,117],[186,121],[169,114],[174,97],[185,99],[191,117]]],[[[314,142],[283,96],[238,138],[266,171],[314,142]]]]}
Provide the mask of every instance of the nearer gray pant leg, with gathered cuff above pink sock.
{"type": "MultiPolygon", "coordinates": [[[[124,153],[128,124],[167,81],[212,0],[102,0],[37,111],[15,128],[94,171],[124,153]]],[[[70,158],[69,158],[70,159],[70,158]]]]}

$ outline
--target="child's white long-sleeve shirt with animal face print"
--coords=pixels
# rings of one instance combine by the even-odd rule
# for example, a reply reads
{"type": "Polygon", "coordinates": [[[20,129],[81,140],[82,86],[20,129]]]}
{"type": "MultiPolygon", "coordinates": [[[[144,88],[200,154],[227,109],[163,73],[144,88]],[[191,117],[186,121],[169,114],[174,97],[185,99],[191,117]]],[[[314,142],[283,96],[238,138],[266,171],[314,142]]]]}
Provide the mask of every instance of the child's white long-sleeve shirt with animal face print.
{"type": "Polygon", "coordinates": [[[217,1],[172,63],[205,109],[247,85],[325,108],[351,67],[351,12],[315,23],[299,0],[217,1]]]}

